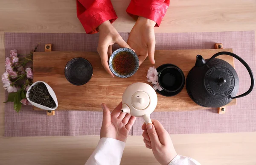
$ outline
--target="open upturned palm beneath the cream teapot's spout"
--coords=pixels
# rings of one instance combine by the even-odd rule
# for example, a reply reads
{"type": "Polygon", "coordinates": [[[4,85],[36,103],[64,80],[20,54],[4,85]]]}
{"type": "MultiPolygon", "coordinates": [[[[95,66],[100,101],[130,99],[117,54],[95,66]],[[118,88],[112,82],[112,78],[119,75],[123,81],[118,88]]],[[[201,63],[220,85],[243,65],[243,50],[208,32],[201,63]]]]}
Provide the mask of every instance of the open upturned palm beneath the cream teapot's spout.
{"type": "Polygon", "coordinates": [[[102,103],[103,121],[100,130],[100,137],[109,137],[122,142],[126,142],[129,131],[131,130],[136,117],[127,113],[122,113],[122,102],[110,114],[108,106],[102,103]]]}

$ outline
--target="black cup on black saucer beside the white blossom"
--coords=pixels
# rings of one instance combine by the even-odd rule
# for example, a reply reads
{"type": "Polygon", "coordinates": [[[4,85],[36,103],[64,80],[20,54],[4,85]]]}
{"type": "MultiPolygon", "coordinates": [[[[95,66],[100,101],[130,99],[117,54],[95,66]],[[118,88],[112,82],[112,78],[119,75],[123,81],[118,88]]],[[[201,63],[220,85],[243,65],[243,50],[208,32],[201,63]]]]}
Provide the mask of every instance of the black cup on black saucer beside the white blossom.
{"type": "Polygon", "coordinates": [[[185,76],[179,67],[173,64],[163,64],[157,68],[158,83],[163,88],[157,91],[164,96],[177,95],[185,85],[185,76]]]}

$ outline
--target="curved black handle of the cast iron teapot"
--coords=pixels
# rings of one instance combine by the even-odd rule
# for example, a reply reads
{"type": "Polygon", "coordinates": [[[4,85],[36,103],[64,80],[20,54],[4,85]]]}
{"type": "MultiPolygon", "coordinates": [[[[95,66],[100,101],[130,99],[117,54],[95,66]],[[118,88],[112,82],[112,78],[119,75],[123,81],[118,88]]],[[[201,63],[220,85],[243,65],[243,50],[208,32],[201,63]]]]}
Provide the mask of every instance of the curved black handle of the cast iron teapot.
{"type": "MultiPolygon", "coordinates": [[[[215,55],[213,55],[213,56],[207,61],[207,63],[208,63],[209,61],[211,61],[212,59],[214,59],[215,57],[220,56],[220,55],[228,55],[228,56],[232,56],[232,57],[238,59],[238,61],[241,62],[241,63],[244,65],[244,67],[247,69],[247,71],[249,72],[250,79],[251,79],[250,88],[249,88],[246,92],[244,92],[244,93],[241,94],[241,95],[238,95],[238,96],[235,96],[235,97],[230,97],[230,98],[232,98],[232,99],[234,99],[234,98],[241,98],[241,97],[244,97],[244,96],[248,95],[250,92],[252,92],[253,87],[254,87],[254,76],[253,76],[253,72],[252,72],[252,70],[250,69],[249,65],[248,65],[241,57],[239,57],[239,56],[237,56],[236,54],[231,53],[231,52],[218,52],[218,53],[216,53],[215,55]]],[[[206,63],[206,65],[207,65],[207,63],[206,63]]]]}

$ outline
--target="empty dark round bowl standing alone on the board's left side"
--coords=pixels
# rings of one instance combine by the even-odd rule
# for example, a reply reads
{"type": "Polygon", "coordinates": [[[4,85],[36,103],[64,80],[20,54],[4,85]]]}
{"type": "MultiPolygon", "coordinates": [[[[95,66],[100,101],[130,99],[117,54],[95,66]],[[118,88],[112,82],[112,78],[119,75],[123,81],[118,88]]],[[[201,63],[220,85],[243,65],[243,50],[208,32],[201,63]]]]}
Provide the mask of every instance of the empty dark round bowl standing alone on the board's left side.
{"type": "Polygon", "coordinates": [[[74,85],[84,85],[93,76],[93,67],[87,59],[74,58],[67,62],[65,77],[74,85]]]}

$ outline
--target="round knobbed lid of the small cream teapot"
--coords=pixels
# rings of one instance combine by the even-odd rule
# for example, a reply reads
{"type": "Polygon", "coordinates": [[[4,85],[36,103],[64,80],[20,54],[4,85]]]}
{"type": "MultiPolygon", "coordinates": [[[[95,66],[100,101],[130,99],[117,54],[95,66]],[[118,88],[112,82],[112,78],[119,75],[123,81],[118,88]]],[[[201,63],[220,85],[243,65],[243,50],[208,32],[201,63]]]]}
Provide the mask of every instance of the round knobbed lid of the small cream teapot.
{"type": "Polygon", "coordinates": [[[146,92],[135,92],[131,97],[131,104],[134,108],[143,110],[148,107],[150,103],[149,95],[146,92]]]}

